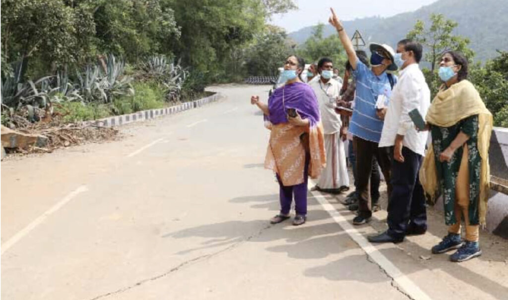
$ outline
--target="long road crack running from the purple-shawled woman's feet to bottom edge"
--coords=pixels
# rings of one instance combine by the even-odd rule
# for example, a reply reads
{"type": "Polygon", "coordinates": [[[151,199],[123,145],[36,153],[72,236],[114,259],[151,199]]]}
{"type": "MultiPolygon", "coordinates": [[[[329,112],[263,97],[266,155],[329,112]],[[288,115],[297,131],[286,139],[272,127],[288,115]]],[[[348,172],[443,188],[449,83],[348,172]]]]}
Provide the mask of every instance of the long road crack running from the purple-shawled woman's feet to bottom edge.
{"type": "Polygon", "coordinates": [[[174,272],[176,272],[176,271],[178,271],[178,270],[182,269],[184,266],[186,266],[186,265],[188,265],[188,264],[196,263],[196,262],[198,262],[198,261],[204,261],[204,260],[207,260],[207,259],[212,258],[212,257],[214,257],[214,256],[217,256],[217,255],[219,255],[219,254],[221,254],[221,253],[224,253],[224,252],[230,251],[230,250],[232,250],[232,249],[234,249],[234,248],[238,247],[240,244],[243,244],[243,243],[245,243],[245,242],[248,242],[248,241],[252,240],[253,238],[257,238],[257,237],[261,236],[261,234],[263,234],[263,231],[265,231],[265,230],[269,229],[269,228],[270,228],[270,227],[272,227],[272,226],[273,226],[273,225],[269,224],[269,225],[267,225],[267,226],[265,226],[265,227],[261,228],[258,232],[256,232],[256,234],[253,234],[253,235],[251,235],[251,236],[248,236],[248,237],[247,237],[247,238],[245,238],[244,240],[239,241],[239,242],[236,242],[236,243],[234,243],[234,244],[232,244],[232,245],[230,245],[230,246],[228,246],[228,247],[226,247],[226,248],[224,248],[224,249],[222,249],[222,250],[219,250],[219,251],[217,251],[217,252],[210,253],[210,254],[206,254],[206,255],[201,255],[201,256],[195,257],[195,258],[193,258],[193,259],[186,260],[186,261],[184,261],[184,262],[180,263],[179,265],[175,266],[174,268],[172,268],[171,270],[169,270],[168,272],[166,272],[166,273],[164,273],[164,274],[157,275],[157,276],[155,276],[155,277],[150,277],[150,278],[148,278],[148,279],[141,280],[141,281],[139,281],[139,282],[137,282],[137,283],[135,283],[135,284],[132,284],[132,285],[130,285],[130,286],[126,286],[126,287],[123,287],[123,288],[118,289],[118,290],[116,290],[116,291],[113,291],[113,292],[109,292],[109,293],[106,293],[106,294],[99,295],[99,296],[97,296],[97,297],[91,298],[90,300],[97,300],[97,299],[104,298],[104,297],[108,297],[108,296],[111,296],[111,295],[115,295],[115,294],[123,293],[123,292],[128,291],[128,290],[130,290],[130,289],[133,289],[133,288],[135,288],[135,287],[141,286],[141,285],[143,285],[143,284],[145,284],[145,283],[147,283],[147,282],[155,281],[155,280],[161,279],[161,278],[163,278],[163,277],[166,277],[166,276],[168,276],[168,275],[170,275],[170,274],[172,274],[172,273],[174,273],[174,272]]]}

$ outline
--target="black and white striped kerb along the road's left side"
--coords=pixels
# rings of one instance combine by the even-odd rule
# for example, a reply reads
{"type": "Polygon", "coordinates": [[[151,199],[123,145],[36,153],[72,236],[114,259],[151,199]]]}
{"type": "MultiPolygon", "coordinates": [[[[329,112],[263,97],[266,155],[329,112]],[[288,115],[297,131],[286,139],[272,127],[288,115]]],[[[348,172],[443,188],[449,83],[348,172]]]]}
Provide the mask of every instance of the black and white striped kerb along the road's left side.
{"type": "Polygon", "coordinates": [[[205,104],[209,104],[217,101],[220,98],[220,94],[215,93],[208,97],[204,97],[195,101],[184,102],[175,106],[159,108],[159,109],[150,109],[145,111],[140,111],[132,114],[126,114],[121,116],[111,116],[104,119],[87,121],[93,122],[97,126],[103,127],[116,127],[124,124],[141,122],[145,120],[150,120],[158,117],[162,117],[165,115],[173,115],[182,111],[199,108],[205,104]]]}

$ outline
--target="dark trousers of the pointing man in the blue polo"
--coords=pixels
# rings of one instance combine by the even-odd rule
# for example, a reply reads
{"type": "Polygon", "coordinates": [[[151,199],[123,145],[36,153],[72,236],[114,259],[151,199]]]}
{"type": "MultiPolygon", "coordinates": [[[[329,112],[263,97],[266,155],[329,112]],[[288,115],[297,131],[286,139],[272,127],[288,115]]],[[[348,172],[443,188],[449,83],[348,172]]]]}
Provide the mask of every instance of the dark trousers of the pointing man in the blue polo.
{"type": "MultiPolygon", "coordinates": [[[[385,176],[388,196],[392,193],[390,183],[390,149],[378,148],[378,143],[353,137],[353,147],[356,154],[356,189],[358,191],[358,215],[364,218],[372,216],[372,199],[370,197],[369,181],[372,174],[372,160],[375,158],[385,176]]],[[[378,185],[379,187],[379,185],[378,185]]],[[[375,199],[374,199],[375,201],[375,199]]]]}

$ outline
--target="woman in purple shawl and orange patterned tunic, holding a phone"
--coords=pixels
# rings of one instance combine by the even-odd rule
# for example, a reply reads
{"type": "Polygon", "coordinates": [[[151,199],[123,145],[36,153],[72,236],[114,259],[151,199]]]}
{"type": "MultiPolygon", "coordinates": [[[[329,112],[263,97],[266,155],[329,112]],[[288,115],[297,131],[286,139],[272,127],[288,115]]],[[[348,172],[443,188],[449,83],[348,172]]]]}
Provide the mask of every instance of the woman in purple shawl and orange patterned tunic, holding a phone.
{"type": "Polygon", "coordinates": [[[305,68],[302,58],[289,56],[282,76],[285,84],[268,98],[250,97],[250,103],[263,111],[265,126],[271,130],[265,168],[273,170],[279,183],[280,212],[270,222],[290,218],[295,196],[296,216],[293,225],[307,218],[308,176],[317,178],[326,165],[323,126],[314,91],[301,81],[305,68]]]}

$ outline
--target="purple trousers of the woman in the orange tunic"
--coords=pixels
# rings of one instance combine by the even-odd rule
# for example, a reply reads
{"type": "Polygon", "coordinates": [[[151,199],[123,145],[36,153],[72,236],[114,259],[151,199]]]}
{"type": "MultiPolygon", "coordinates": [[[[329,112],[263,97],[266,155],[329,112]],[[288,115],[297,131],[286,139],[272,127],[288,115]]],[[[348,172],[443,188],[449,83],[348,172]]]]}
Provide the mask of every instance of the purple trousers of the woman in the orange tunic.
{"type": "Polygon", "coordinates": [[[291,186],[284,186],[277,174],[277,181],[279,182],[279,199],[280,199],[280,214],[289,215],[291,211],[291,203],[293,202],[293,194],[295,195],[295,211],[297,215],[307,215],[307,183],[309,174],[309,160],[310,155],[305,156],[305,167],[303,169],[303,183],[291,186]]]}

